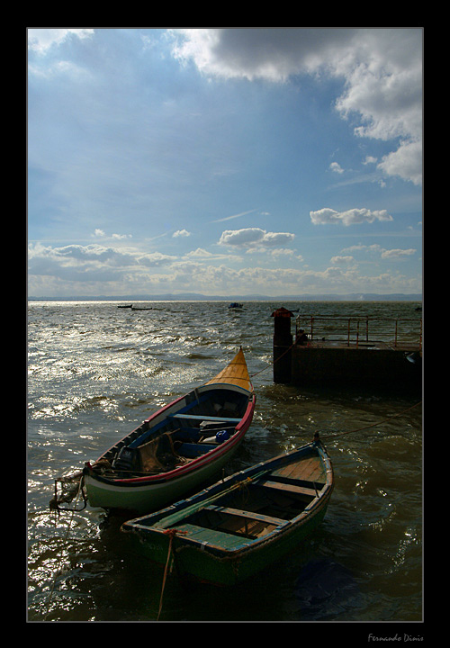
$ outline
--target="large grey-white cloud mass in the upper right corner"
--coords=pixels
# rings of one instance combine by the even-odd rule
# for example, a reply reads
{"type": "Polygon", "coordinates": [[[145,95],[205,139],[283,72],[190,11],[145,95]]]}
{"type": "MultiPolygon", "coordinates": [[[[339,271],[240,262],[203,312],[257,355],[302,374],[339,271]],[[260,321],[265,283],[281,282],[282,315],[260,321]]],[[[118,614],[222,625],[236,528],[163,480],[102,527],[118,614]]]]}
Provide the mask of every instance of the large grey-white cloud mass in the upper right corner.
{"type": "MultiPolygon", "coordinates": [[[[285,83],[299,75],[344,81],[335,107],[355,117],[355,135],[414,147],[380,168],[419,184],[422,137],[422,31],[418,28],[239,28],[168,31],[173,55],[204,76],[285,83]]],[[[398,155],[397,155],[398,154],[398,155]]]]}

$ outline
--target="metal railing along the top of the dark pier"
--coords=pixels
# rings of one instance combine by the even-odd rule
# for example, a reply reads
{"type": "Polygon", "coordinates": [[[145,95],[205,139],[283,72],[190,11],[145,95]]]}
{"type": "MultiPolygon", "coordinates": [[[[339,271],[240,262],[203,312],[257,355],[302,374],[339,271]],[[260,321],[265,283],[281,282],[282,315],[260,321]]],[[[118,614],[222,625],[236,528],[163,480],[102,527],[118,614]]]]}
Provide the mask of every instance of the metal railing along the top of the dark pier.
{"type": "Polygon", "coordinates": [[[338,341],[343,344],[369,346],[383,343],[394,348],[422,348],[422,319],[365,317],[324,317],[299,315],[296,319],[296,340],[307,336],[308,342],[338,341]]]}

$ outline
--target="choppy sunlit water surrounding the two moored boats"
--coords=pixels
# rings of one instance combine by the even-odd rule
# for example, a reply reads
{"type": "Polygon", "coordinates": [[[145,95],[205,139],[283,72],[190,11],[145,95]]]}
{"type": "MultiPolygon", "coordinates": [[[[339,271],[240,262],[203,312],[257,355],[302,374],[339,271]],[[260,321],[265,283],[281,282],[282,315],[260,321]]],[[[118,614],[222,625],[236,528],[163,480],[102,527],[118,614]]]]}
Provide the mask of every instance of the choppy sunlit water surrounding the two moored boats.
{"type": "Polygon", "coordinates": [[[251,581],[186,590],[173,574],[161,621],[421,621],[422,408],[412,407],[419,399],[273,383],[270,317],[285,305],[419,319],[417,304],[247,302],[242,312],[224,302],[148,305],[29,304],[28,620],[157,618],[163,570],[128,554],[103,511],[50,512],[54,478],[96,459],[242,346],[257,410],[229,471],[309,442],[318,429],[335,491],[318,531],[251,581]]]}

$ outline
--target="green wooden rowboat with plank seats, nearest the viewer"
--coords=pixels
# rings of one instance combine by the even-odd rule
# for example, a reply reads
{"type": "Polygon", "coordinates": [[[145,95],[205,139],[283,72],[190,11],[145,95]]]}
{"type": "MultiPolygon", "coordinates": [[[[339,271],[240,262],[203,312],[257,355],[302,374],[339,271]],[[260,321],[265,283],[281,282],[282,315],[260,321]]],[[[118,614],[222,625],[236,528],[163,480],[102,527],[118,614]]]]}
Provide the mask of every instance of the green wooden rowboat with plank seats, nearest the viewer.
{"type": "Polygon", "coordinates": [[[220,585],[244,581],[293,551],[325,516],[333,468],[319,437],[121,526],[155,563],[220,585]]]}

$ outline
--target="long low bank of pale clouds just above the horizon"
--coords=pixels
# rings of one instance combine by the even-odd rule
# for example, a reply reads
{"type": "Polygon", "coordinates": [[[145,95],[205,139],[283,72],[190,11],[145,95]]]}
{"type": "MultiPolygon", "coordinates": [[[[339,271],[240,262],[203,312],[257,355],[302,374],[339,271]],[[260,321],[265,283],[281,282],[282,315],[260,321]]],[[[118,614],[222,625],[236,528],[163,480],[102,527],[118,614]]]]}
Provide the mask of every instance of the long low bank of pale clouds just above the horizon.
{"type": "Polygon", "coordinates": [[[339,267],[346,259],[338,257],[333,259],[334,266],[323,271],[212,265],[211,261],[218,259],[202,249],[189,258],[177,259],[158,252],[124,253],[94,245],[45,247],[37,243],[29,248],[29,294],[74,297],[195,291],[228,295],[238,291],[276,295],[298,293],[299,285],[308,285],[311,293],[419,293],[421,287],[419,278],[397,273],[361,275],[353,264],[339,267]]]}

